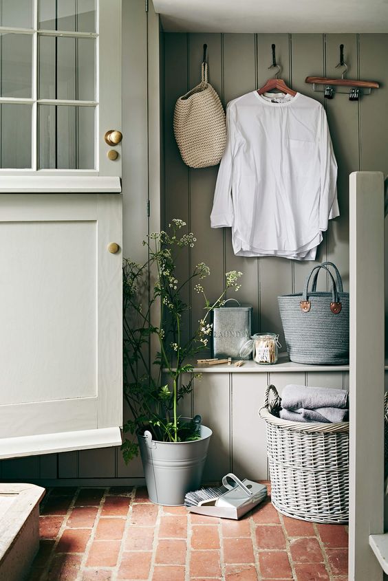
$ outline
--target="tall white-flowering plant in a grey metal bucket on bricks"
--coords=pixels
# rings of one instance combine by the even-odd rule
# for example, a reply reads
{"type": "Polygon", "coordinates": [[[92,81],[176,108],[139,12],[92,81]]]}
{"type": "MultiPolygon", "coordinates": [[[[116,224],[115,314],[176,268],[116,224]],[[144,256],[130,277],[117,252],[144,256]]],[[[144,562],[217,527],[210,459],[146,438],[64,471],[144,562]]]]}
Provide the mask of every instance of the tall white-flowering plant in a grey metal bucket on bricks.
{"type": "Polygon", "coordinates": [[[202,286],[210,274],[205,263],[178,281],[179,255],[195,242],[186,223],[174,219],[166,232],[143,241],[147,261],[123,265],[124,395],[131,414],[124,431],[138,442],[126,437],[122,453],[128,462],[140,448],[149,498],[164,505],[181,505],[184,494],[200,485],[211,430],[199,415],[180,417],[178,406],[198,377],[192,361],[211,336],[211,310],[224,304],[229,289],[239,289],[242,275],[226,273],[224,291],[214,303],[202,286]],[[204,298],[204,314],[188,334],[190,306],[183,297],[191,286],[204,298]],[[188,377],[185,383],[182,376],[188,377]]]}

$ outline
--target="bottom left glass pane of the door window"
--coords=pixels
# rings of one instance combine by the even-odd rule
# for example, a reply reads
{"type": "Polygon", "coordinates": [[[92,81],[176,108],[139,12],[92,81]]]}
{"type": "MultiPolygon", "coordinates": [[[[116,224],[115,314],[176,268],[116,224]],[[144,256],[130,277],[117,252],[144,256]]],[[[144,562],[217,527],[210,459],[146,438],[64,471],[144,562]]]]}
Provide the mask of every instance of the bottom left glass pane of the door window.
{"type": "Polygon", "coordinates": [[[0,105],[0,167],[31,167],[31,105],[0,105]]]}

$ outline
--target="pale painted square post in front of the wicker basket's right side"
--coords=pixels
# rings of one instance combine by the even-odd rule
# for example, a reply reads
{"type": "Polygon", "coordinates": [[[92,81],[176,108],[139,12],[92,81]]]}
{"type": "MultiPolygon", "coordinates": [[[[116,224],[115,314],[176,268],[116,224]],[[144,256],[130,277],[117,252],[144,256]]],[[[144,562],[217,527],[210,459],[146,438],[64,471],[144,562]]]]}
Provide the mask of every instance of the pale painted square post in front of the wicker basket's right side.
{"type": "Polygon", "coordinates": [[[383,185],[380,172],[350,175],[350,581],[382,580],[369,535],[384,520],[383,185]]]}

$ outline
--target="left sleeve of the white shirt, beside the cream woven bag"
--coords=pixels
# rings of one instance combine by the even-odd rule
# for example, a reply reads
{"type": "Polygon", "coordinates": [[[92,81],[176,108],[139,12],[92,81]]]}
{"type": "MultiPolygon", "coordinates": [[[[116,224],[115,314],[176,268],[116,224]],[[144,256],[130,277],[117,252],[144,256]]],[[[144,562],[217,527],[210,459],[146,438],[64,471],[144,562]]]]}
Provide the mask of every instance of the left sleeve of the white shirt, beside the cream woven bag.
{"type": "Polygon", "coordinates": [[[211,211],[211,228],[233,226],[234,210],[232,199],[233,151],[235,145],[235,128],[232,112],[226,107],[226,147],[219,165],[217,183],[211,211]]]}

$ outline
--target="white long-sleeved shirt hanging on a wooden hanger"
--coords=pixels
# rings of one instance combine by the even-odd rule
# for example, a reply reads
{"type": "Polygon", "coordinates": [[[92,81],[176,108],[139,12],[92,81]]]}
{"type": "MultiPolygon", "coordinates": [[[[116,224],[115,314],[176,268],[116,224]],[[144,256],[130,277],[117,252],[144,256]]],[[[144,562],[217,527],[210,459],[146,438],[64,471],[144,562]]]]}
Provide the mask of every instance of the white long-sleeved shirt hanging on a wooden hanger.
{"type": "Polygon", "coordinates": [[[232,228],[238,256],[314,260],[339,215],[325,109],[297,93],[252,91],[228,103],[211,227],[232,228]]]}

